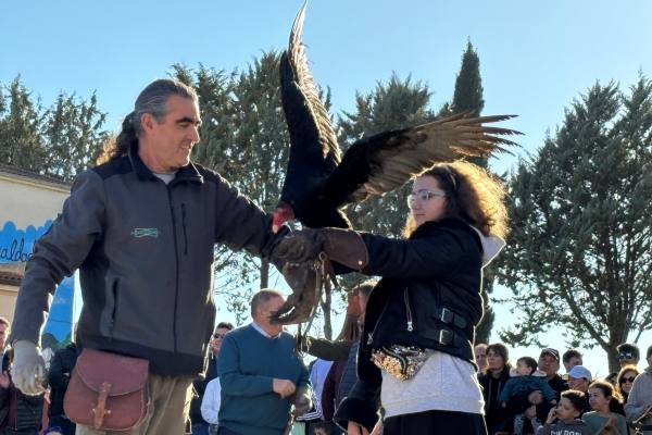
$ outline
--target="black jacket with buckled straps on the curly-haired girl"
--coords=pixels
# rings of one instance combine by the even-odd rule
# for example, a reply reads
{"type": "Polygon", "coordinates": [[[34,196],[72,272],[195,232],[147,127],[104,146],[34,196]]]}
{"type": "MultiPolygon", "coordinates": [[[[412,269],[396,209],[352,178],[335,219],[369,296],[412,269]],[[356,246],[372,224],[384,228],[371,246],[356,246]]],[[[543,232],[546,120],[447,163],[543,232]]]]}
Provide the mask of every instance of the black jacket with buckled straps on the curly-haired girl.
{"type": "Polygon", "coordinates": [[[383,346],[417,346],[474,363],[472,343],[482,316],[482,247],[461,220],[422,224],[408,240],[362,235],[369,252],[363,271],[380,275],[373,289],[358,353],[359,381],[336,412],[372,430],[378,420],[383,381],[369,360],[383,346]]]}

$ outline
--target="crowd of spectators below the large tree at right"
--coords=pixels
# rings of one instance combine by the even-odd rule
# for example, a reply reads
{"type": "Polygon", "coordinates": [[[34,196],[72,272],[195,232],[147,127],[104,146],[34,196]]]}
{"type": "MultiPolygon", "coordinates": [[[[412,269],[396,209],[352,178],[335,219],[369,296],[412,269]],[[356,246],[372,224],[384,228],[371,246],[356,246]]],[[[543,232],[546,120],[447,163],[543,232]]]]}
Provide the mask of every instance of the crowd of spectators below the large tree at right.
{"type": "MultiPolygon", "coordinates": [[[[651,424],[652,346],[647,350],[648,366],[642,372],[636,345],[625,343],[617,350],[619,371],[594,378],[577,349],[560,357],[556,349],[544,348],[538,360],[522,357],[513,366],[505,345],[476,345],[489,434],[627,435],[635,433],[634,423],[651,424]],[[556,430],[555,422],[560,425],[556,430]],[[566,424],[573,427],[559,432],[566,424]]],[[[651,428],[643,433],[652,434],[651,428]]]]}

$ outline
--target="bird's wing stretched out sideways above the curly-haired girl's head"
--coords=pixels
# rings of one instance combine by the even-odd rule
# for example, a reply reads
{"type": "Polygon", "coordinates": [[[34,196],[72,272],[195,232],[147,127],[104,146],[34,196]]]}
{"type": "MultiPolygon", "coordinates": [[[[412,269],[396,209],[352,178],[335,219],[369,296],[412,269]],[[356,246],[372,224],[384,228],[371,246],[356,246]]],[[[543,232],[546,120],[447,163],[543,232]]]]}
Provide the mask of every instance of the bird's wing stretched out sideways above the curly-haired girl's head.
{"type": "Polygon", "coordinates": [[[335,207],[359,202],[403,186],[438,162],[489,157],[516,146],[505,136],[519,132],[486,126],[514,115],[468,117],[457,114],[412,128],[360,139],[344,153],[322,194],[335,207]]]}

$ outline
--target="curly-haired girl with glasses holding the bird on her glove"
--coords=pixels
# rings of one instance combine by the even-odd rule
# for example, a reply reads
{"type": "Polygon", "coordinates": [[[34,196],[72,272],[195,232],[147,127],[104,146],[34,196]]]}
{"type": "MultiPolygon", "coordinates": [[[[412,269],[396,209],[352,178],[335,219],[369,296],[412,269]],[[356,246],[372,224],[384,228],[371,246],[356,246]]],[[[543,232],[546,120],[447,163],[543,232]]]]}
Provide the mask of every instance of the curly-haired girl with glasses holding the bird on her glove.
{"type": "Polygon", "coordinates": [[[368,434],[381,406],[385,435],[487,434],[473,343],[482,268],[504,246],[503,186],[472,163],[442,163],[414,179],[408,203],[403,239],[303,229],[287,256],[323,251],[383,277],[367,302],[359,381],[335,420],[368,434]]]}

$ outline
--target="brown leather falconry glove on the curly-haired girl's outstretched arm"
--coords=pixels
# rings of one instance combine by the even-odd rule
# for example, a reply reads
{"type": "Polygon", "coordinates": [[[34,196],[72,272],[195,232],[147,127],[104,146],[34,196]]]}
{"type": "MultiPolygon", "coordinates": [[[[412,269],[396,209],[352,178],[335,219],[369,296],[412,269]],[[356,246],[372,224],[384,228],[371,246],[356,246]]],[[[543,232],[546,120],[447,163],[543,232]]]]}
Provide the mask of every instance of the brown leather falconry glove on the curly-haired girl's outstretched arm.
{"type": "Polygon", "coordinates": [[[326,253],[331,261],[356,271],[368,263],[366,245],[353,229],[298,229],[284,237],[274,249],[274,256],[290,263],[315,260],[321,252],[326,253]]]}

